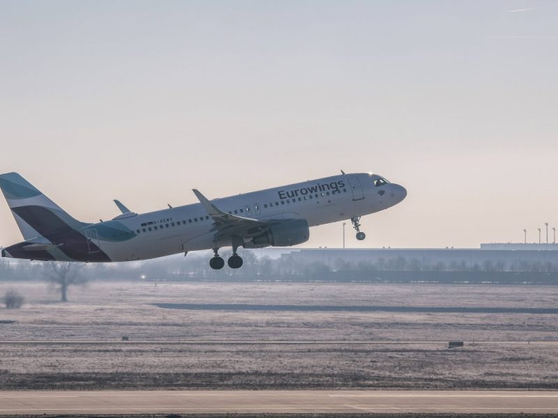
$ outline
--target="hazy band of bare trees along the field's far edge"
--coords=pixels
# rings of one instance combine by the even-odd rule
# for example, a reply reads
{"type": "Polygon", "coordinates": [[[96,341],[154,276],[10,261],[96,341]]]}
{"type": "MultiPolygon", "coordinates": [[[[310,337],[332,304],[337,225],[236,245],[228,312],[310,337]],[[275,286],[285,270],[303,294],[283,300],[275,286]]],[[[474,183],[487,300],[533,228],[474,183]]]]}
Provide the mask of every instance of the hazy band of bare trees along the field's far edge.
{"type": "MultiPolygon", "coordinates": [[[[376,261],[347,261],[343,258],[317,260],[304,258],[299,254],[284,254],[280,258],[257,256],[254,251],[244,250],[242,253],[244,265],[239,270],[224,268],[212,270],[209,268],[208,256],[197,254],[170,256],[151,261],[137,261],[128,263],[61,263],[17,261],[9,262],[0,258],[0,280],[47,280],[59,288],[61,300],[66,299],[69,286],[89,280],[269,280],[285,281],[304,280],[308,277],[315,279],[320,275],[337,273],[375,274],[377,272],[531,272],[556,273],[558,263],[550,261],[513,261],[505,262],[486,259],[483,262],[471,263],[467,261],[432,261],[419,258],[386,257],[376,261]]],[[[223,251],[226,259],[226,251],[223,251]]],[[[364,277],[363,274],[360,277],[364,277]]],[[[350,275],[350,274],[349,274],[350,275]]],[[[407,275],[408,277],[408,275],[407,275]]]]}

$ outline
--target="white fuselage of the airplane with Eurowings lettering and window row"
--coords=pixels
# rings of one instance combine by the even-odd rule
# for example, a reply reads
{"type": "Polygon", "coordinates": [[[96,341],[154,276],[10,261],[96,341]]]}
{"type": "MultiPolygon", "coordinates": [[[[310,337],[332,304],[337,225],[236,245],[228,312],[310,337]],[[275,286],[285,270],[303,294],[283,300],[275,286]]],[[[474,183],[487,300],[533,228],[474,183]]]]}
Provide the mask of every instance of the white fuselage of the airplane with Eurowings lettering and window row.
{"type": "MultiPolygon", "coordinates": [[[[379,176],[357,173],[238,194],[211,203],[239,217],[306,219],[309,226],[317,226],[384,210],[402,201],[405,194],[403,187],[379,176]],[[378,179],[383,183],[375,185],[378,179]]],[[[112,261],[143,260],[231,245],[214,241],[213,219],[201,203],[140,215],[124,214],[109,221],[112,222],[136,234],[130,240],[98,242],[112,261]]],[[[92,224],[87,229],[102,228],[103,224],[92,224]]]]}

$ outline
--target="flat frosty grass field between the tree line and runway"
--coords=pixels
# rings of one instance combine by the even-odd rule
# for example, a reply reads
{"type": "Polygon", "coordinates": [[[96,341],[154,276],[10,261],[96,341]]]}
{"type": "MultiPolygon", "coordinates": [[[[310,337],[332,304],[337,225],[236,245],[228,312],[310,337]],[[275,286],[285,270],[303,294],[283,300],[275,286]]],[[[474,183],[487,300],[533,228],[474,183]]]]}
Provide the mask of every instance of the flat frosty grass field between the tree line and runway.
{"type": "Polygon", "coordinates": [[[67,303],[42,283],[8,288],[26,303],[0,309],[0,389],[558,388],[558,345],[542,343],[558,341],[555,314],[154,305],[555,308],[554,286],[117,282],[73,288],[67,303]],[[350,343],[370,340],[384,343],[350,343]]]}

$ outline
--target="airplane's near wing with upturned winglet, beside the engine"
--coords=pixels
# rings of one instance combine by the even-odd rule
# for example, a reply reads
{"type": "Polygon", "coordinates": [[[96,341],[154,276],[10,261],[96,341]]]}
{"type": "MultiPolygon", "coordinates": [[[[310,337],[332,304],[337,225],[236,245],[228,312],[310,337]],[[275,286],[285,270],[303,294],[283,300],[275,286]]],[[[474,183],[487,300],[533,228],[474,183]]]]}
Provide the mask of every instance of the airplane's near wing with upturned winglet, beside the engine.
{"type": "Polygon", "coordinates": [[[207,214],[213,219],[213,230],[215,231],[215,238],[213,240],[217,241],[226,236],[237,235],[243,238],[251,238],[255,235],[259,235],[264,232],[269,225],[281,222],[277,221],[260,221],[258,219],[252,219],[248,217],[241,217],[237,215],[232,215],[228,212],[223,212],[217,208],[209,199],[206,198],[199,190],[192,190],[196,195],[199,203],[206,210],[207,214]]]}

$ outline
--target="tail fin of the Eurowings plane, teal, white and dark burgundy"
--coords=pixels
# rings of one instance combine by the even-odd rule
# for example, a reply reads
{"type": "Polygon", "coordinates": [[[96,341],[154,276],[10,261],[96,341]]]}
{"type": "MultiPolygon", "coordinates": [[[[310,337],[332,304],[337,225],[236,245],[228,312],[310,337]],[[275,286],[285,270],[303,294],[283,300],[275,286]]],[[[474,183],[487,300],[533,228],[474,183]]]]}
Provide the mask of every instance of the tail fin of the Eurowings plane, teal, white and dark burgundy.
{"type": "Polygon", "coordinates": [[[0,174],[0,189],[25,240],[48,237],[68,226],[77,229],[84,225],[18,173],[0,174]]]}

